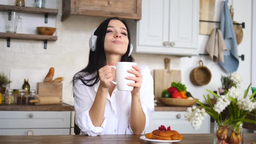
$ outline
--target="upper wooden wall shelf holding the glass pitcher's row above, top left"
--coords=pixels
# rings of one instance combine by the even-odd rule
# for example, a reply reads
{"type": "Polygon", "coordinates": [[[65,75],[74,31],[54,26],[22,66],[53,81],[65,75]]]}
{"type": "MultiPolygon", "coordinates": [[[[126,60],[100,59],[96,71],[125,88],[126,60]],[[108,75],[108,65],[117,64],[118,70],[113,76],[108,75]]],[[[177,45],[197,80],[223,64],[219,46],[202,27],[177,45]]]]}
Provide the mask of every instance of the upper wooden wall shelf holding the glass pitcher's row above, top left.
{"type": "Polygon", "coordinates": [[[0,11],[16,11],[20,13],[35,13],[35,14],[49,14],[56,16],[58,14],[58,9],[46,9],[38,7],[17,7],[10,5],[0,4],[0,11]]]}

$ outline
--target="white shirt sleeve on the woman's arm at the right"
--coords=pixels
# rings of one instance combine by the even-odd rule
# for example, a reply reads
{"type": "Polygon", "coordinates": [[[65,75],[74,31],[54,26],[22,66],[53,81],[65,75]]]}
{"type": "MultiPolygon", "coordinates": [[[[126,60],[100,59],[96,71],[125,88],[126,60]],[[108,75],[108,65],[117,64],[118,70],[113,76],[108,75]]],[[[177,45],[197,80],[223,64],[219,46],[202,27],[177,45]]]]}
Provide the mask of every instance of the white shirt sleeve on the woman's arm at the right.
{"type": "MultiPolygon", "coordinates": [[[[145,130],[148,128],[149,115],[152,111],[154,111],[154,82],[148,66],[144,66],[142,75],[143,75],[143,78],[142,78],[141,89],[140,89],[140,94],[141,94],[140,98],[141,98],[141,107],[146,117],[146,123],[145,123],[145,128],[141,134],[144,134],[145,130]]],[[[128,124],[128,129],[133,134],[131,130],[130,122],[128,124]]]]}

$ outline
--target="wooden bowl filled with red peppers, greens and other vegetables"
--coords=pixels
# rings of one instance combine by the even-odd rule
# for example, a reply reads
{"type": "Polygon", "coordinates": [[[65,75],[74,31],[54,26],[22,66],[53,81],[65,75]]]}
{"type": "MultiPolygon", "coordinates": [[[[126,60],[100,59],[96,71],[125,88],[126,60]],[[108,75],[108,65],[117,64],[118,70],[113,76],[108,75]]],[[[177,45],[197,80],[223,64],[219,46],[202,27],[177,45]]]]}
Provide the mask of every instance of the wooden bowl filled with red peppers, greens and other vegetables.
{"type": "Polygon", "coordinates": [[[158,99],[164,105],[184,107],[190,107],[198,100],[187,92],[187,87],[180,82],[172,82],[171,87],[163,90],[162,97],[158,99]]]}

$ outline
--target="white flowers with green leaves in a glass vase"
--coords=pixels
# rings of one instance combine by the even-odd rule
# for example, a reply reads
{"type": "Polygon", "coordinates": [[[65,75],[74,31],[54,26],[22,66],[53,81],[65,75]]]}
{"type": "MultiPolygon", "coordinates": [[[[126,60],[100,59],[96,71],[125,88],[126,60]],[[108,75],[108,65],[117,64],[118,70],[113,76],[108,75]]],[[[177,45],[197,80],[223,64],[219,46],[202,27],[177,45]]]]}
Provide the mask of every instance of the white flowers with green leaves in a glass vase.
{"type": "MultiPolygon", "coordinates": [[[[209,106],[203,105],[202,102],[197,100],[200,106],[193,106],[187,109],[185,118],[191,122],[193,128],[198,129],[201,126],[203,117],[208,114],[215,120],[214,126],[214,144],[242,144],[243,143],[243,123],[254,123],[255,120],[247,119],[246,115],[256,111],[256,95],[247,96],[249,87],[246,89],[242,98],[240,95],[240,85],[242,78],[236,72],[233,72],[229,79],[230,88],[225,89],[225,95],[217,95],[214,92],[207,90],[210,94],[217,98],[217,103],[213,105],[210,101],[210,95],[203,95],[203,98],[209,106]],[[229,116],[223,121],[221,112],[228,109],[229,116]]],[[[256,115],[253,115],[256,116],[256,115]]]]}

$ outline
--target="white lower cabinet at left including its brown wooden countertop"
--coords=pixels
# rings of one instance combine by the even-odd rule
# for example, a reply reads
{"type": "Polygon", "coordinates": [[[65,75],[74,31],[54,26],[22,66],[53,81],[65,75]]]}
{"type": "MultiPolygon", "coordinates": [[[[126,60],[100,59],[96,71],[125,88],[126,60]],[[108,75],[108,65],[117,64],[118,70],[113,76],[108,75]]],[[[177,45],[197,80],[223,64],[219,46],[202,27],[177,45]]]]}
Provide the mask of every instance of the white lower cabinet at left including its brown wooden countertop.
{"type": "Polygon", "coordinates": [[[69,135],[73,128],[71,105],[0,105],[0,135],[69,135]]]}

